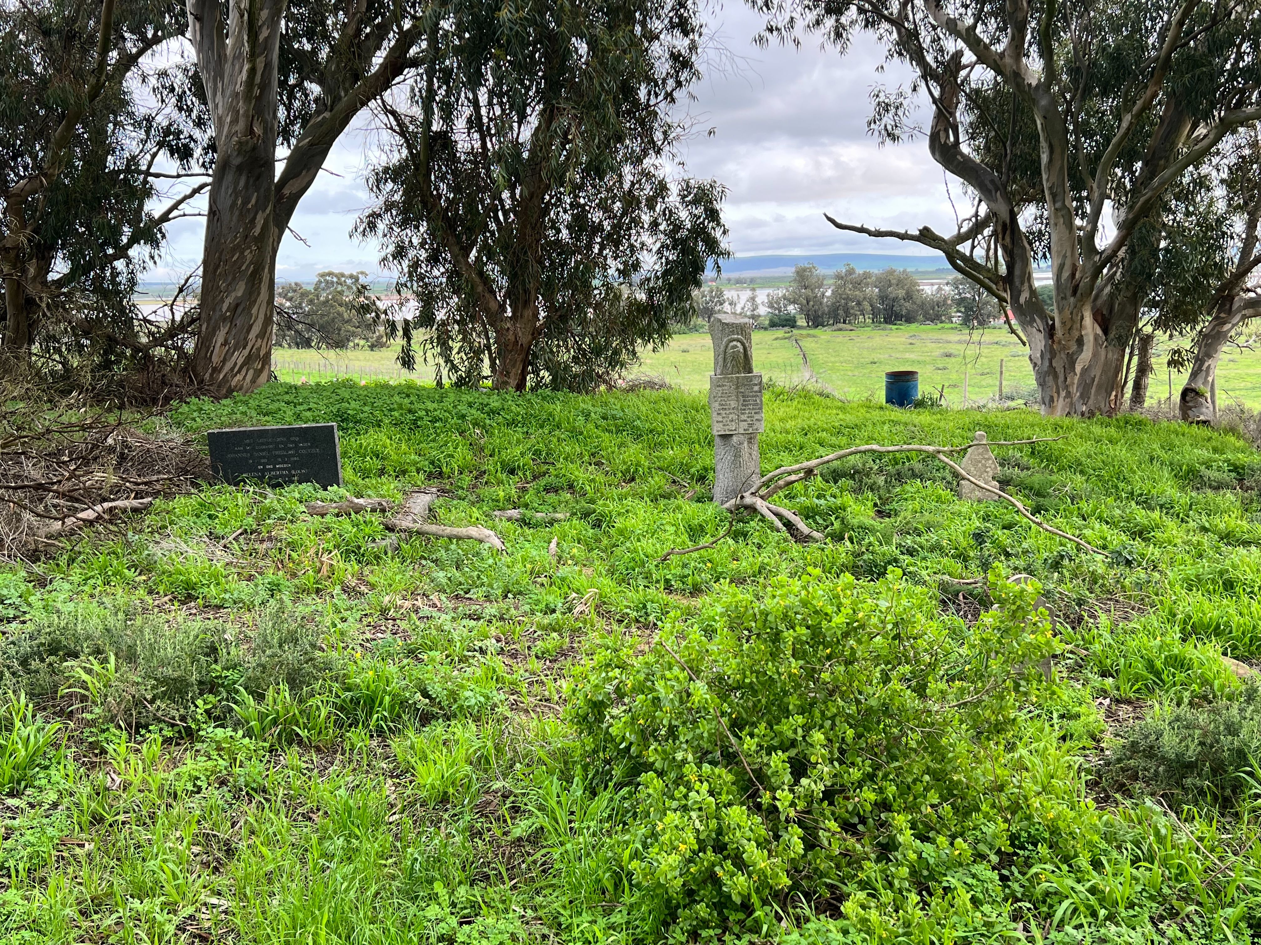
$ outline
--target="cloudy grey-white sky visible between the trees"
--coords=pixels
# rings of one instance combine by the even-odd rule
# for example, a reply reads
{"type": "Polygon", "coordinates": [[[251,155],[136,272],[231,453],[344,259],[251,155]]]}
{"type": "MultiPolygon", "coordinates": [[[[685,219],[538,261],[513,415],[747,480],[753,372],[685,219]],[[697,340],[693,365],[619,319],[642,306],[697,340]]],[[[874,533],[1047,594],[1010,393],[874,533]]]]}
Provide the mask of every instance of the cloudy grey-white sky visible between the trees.
{"type": "MultiPolygon", "coordinates": [[[[825,210],[869,226],[952,226],[942,173],[926,142],[881,149],[866,134],[871,86],[898,81],[892,68],[876,74],[879,50],[863,45],[841,57],[821,50],[812,37],[801,49],[758,49],[752,39],[762,20],[744,5],[729,3],[711,19],[731,58],[710,68],[694,89],[687,113],[695,127],[682,156],[689,174],[728,186],[725,218],[736,256],[923,252],[913,243],[842,233],[823,219],[825,210]]],[[[349,233],[369,200],[363,166],[371,140],[351,131],[329,156],[293,219],[293,231],[310,248],[286,234],[279,278],[310,278],[327,268],[380,273],[377,247],[349,233]]],[[[149,277],[183,273],[197,266],[200,252],[202,222],[180,220],[171,227],[166,258],[149,277]]]]}

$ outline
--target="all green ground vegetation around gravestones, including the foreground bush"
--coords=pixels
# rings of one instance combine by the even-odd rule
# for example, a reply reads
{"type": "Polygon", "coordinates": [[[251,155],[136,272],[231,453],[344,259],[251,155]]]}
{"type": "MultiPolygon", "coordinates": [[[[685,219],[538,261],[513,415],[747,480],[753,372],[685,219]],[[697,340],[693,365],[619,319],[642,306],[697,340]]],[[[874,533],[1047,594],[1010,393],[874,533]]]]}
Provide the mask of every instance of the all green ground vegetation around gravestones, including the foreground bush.
{"type": "Polygon", "coordinates": [[[184,404],[335,421],[346,489],[207,485],[0,571],[0,941],[1261,936],[1261,697],[1223,660],[1261,662],[1255,450],[784,388],[765,417],[765,469],[1061,437],[1001,483],[1107,554],[854,456],[777,496],[826,542],[741,518],[661,561],[729,523],[677,391],[184,404]],[[304,508],[421,486],[507,551],[304,508]]]}

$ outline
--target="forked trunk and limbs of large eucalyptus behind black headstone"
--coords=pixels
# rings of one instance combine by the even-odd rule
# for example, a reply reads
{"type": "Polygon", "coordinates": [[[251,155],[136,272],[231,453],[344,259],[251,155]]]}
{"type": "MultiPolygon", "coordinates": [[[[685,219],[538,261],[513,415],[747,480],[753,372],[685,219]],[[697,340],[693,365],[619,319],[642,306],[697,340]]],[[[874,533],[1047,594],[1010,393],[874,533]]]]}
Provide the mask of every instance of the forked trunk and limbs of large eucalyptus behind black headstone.
{"type": "Polygon", "coordinates": [[[188,0],[214,135],[193,353],[211,393],[270,377],[280,241],[342,132],[414,64],[424,13],[406,0],[188,0]]]}

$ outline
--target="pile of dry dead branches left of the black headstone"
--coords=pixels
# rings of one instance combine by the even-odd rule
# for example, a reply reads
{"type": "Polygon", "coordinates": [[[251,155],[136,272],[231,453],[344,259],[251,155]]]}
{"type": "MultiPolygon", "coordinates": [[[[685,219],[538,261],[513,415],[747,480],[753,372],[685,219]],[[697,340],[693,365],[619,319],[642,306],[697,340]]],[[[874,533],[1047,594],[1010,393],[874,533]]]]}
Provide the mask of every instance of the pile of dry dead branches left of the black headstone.
{"type": "Polygon", "coordinates": [[[136,422],[0,386],[0,559],[29,561],[81,525],[145,509],[207,475],[190,437],[141,432],[136,422]]]}

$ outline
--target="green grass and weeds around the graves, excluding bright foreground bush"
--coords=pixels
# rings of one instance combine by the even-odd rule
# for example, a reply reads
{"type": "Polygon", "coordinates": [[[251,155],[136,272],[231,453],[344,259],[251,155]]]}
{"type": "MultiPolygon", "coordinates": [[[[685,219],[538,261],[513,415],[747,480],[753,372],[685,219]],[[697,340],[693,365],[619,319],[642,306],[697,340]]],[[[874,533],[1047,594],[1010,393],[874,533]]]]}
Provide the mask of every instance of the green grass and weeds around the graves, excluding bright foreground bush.
{"type": "MultiPolygon", "coordinates": [[[[817,340],[909,334],[944,348],[923,328],[817,340]]],[[[774,350],[764,338],[755,352],[774,350]]],[[[675,344],[707,352],[704,335],[675,344]]],[[[709,355],[692,354],[704,373],[709,355]]],[[[1004,481],[1110,556],[963,503],[939,464],[895,456],[781,495],[826,543],[741,519],[712,548],[661,562],[726,527],[704,500],[712,445],[697,393],[272,384],[174,420],[335,421],[346,490],[332,494],[440,486],[440,522],[493,527],[508,551],[421,537],[391,551],[378,517],[305,514],[329,495],[314,486],[206,486],[68,541],[38,573],[0,571],[0,682],[23,693],[0,712],[5,945],[682,935],[636,867],[636,785],[581,748],[566,712],[576,667],[610,641],[634,651],[707,626],[812,571],[876,596],[900,571],[914,620],[948,640],[990,600],[943,578],[995,566],[1042,583],[1062,651],[1054,684],[994,736],[1000,753],[958,756],[970,784],[1006,785],[976,808],[970,852],[918,835],[878,844],[846,861],[835,893],[765,903],[760,925],[729,931],[820,944],[1261,936],[1261,809],[1238,780],[1261,772],[1214,770],[1243,786],[1229,804],[1175,798],[1177,820],[1096,777],[1110,726],[1231,701],[1241,689],[1221,654],[1261,660],[1261,462],[1231,435],[773,387],[765,469],[864,442],[961,444],[977,428],[1062,437],[997,450],[1004,481]],[[507,508],[569,518],[491,515],[507,508]]]]}

